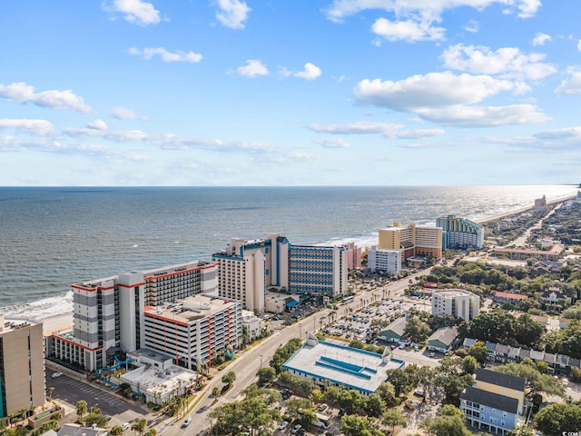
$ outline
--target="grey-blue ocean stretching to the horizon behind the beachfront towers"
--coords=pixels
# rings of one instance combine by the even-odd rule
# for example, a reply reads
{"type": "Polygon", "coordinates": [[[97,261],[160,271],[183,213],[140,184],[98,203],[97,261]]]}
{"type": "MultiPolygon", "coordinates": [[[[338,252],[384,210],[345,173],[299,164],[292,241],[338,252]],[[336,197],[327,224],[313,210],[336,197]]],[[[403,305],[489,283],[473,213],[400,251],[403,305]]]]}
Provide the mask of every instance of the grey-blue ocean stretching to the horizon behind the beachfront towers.
{"type": "Polygon", "coordinates": [[[0,311],[72,310],[74,282],[211,260],[233,237],[377,243],[399,221],[481,221],[575,186],[0,188],[0,311]]]}

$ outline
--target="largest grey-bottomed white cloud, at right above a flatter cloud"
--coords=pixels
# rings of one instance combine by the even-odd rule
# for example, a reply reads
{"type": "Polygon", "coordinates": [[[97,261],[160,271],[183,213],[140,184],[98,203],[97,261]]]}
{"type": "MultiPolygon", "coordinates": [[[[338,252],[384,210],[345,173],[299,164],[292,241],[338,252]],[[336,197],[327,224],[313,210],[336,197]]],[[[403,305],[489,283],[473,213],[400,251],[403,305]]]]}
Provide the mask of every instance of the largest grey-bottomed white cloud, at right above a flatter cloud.
{"type": "Polygon", "coordinates": [[[515,84],[488,75],[429,73],[412,75],[399,82],[365,79],[354,89],[361,104],[414,112],[423,107],[475,104],[488,96],[511,91],[515,84]]]}

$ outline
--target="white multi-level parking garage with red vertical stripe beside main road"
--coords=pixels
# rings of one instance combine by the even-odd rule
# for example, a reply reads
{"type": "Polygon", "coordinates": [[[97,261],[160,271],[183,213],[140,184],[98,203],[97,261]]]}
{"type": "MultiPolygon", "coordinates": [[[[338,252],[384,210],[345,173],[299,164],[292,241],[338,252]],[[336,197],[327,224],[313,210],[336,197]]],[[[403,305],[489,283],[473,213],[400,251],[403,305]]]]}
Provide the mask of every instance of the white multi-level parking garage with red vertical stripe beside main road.
{"type": "MultiPolygon", "coordinates": [[[[232,353],[242,340],[242,302],[199,294],[143,313],[144,348],[189,370],[212,365],[216,356],[232,353]]],[[[231,357],[231,356],[227,356],[231,357]]]]}

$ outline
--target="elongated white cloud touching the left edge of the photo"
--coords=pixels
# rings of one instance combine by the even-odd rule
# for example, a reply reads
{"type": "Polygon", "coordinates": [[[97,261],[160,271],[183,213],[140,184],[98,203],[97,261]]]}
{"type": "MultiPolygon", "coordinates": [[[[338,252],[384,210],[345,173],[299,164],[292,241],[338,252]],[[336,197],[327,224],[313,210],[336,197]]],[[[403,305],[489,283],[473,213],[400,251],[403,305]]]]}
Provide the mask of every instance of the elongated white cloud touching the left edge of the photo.
{"type": "Polygon", "coordinates": [[[19,103],[32,103],[37,106],[52,109],[74,109],[84,114],[91,112],[91,107],[84,104],[83,97],[75,95],[70,89],[64,91],[43,91],[34,93],[34,86],[18,82],[15,84],[0,84],[0,97],[19,103]]]}

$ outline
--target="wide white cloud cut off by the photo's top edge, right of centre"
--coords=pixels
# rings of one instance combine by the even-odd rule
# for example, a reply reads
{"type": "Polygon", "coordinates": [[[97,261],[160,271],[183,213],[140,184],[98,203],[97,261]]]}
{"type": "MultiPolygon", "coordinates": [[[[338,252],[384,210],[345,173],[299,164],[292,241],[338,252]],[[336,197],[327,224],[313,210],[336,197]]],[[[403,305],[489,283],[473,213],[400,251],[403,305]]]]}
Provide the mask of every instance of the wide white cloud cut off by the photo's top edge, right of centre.
{"type": "Polygon", "coordinates": [[[511,14],[510,8],[517,7],[518,16],[527,18],[537,13],[540,0],[334,0],[323,12],[334,22],[341,22],[347,16],[356,15],[369,9],[380,9],[396,15],[440,15],[447,9],[473,7],[482,10],[490,5],[507,5],[504,13],[511,14]]]}

